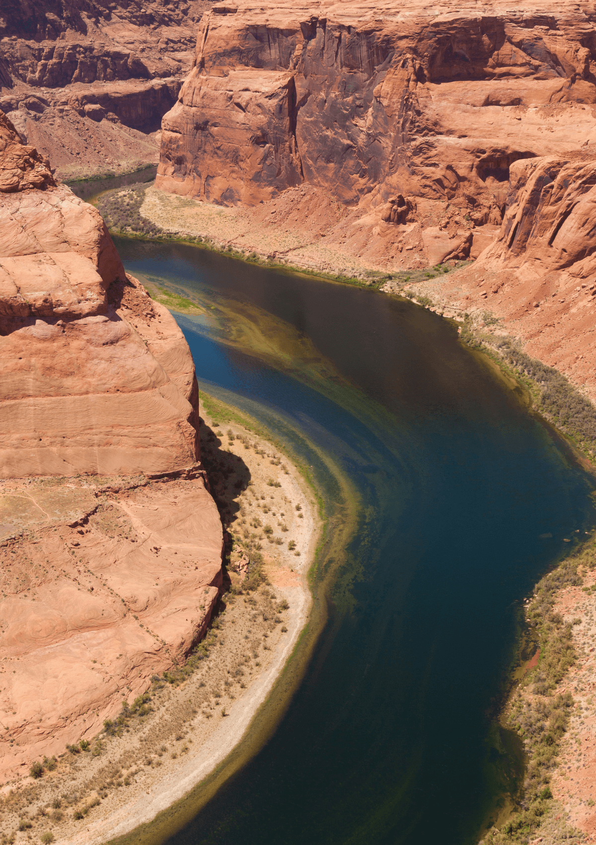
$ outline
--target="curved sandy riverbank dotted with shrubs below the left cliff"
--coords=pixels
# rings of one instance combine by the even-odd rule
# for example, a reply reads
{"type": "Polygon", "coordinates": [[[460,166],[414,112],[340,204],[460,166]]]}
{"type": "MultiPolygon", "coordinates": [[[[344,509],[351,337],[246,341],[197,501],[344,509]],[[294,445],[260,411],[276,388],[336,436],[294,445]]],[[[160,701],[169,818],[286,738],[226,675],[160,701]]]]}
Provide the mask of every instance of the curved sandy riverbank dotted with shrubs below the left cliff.
{"type": "Polygon", "coordinates": [[[320,526],[311,488],[209,397],[201,439],[229,574],[206,638],[145,695],[129,696],[89,744],[42,763],[38,779],[7,785],[8,841],[35,832],[100,843],[150,822],[225,759],[290,657],[311,602],[306,572],[320,526]]]}

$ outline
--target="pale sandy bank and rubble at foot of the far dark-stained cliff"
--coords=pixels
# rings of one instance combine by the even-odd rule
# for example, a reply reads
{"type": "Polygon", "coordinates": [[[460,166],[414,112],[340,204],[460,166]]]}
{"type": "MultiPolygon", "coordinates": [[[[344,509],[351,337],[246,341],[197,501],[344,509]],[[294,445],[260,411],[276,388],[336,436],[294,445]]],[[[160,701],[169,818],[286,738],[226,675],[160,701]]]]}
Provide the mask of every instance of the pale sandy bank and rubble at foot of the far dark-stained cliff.
{"type": "MultiPolygon", "coordinates": [[[[168,194],[146,184],[101,196],[97,207],[111,232],[198,244],[232,258],[331,281],[379,287],[422,281],[429,268],[418,254],[404,261],[378,260],[366,249],[366,218],[320,189],[304,185],[255,207],[215,205],[168,194]],[[290,227],[289,227],[290,226],[290,227]]],[[[448,273],[465,264],[449,260],[448,273]]]]}

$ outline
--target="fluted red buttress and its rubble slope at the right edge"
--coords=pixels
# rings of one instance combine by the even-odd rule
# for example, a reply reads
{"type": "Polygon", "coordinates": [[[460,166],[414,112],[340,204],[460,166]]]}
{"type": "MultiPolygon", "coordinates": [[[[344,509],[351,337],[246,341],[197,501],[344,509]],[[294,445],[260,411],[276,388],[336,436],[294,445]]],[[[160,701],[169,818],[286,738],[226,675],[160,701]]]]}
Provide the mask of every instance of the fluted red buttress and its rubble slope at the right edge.
{"type": "Polygon", "coordinates": [[[526,351],[596,398],[596,159],[589,153],[517,161],[492,245],[443,282],[449,300],[482,309],[526,351]]]}

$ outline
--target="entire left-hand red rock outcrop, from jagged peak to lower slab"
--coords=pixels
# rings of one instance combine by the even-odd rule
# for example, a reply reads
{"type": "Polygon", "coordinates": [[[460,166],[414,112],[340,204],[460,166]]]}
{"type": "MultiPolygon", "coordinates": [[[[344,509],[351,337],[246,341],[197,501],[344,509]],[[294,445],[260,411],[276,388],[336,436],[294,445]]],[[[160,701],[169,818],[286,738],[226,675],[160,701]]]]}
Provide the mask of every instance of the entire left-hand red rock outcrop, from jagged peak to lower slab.
{"type": "Polygon", "coordinates": [[[0,114],[0,777],[202,635],[222,527],[182,331],[0,114]]]}

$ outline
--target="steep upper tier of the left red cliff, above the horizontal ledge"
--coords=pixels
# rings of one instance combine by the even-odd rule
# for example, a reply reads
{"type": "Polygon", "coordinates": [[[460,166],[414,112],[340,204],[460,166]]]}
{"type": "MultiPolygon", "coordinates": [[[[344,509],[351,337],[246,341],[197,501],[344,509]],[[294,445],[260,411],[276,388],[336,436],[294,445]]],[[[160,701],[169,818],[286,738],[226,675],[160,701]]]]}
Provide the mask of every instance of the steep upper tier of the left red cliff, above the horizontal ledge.
{"type": "Polygon", "coordinates": [[[0,472],[192,464],[194,369],[181,330],[127,281],[95,208],[64,186],[26,190],[32,178],[53,186],[51,173],[2,125],[0,184],[20,189],[0,194],[0,472]]]}

